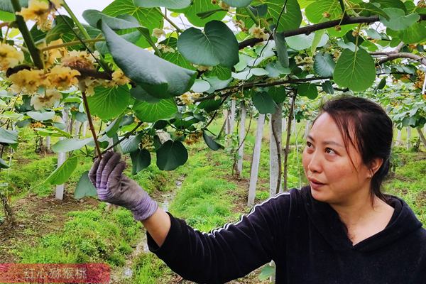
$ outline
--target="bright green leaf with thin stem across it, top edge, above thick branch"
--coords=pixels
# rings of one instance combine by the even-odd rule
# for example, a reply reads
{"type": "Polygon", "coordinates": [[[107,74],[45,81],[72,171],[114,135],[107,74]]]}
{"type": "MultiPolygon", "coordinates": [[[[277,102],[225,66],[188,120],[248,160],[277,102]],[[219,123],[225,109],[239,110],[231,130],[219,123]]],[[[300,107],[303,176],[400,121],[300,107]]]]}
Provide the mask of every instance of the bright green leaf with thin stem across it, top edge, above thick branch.
{"type": "MultiPolygon", "coordinates": [[[[265,18],[272,18],[273,23],[276,25],[278,17],[283,10],[283,0],[266,0],[263,4],[268,5],[268,14],[265,18]]],[[[297,0],[288,0],[283,14],[278,23],[277,32],[289,31],[299,28],[302,23],[302,12],[297,0]]]]}

